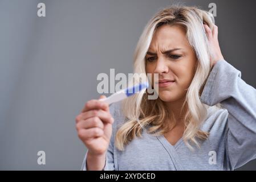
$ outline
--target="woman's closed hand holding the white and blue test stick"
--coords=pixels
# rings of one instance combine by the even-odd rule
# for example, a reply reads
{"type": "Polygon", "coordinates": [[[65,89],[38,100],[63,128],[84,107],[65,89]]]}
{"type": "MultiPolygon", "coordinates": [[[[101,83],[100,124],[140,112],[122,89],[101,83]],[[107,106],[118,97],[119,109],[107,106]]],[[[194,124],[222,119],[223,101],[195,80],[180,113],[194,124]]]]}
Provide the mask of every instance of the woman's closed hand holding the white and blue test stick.
{"type": "MultiPolygon", "coordinates": [[[[100,98],[104,98],[101,96],[100,98]]],[[[88,155],[103,156],[108,149],[114,119],[107,103],[90,100],[76,117],[78,137],[88,148],[88,155]]]]}

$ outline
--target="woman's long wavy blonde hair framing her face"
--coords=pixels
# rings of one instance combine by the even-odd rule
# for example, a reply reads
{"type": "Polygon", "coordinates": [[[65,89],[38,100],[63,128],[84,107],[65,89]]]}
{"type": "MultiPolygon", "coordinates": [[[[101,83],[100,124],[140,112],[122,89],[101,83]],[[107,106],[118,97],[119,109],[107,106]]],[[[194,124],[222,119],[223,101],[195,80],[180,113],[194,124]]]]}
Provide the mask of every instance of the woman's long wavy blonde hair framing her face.
{"type": "MultiPolygon", "coordinates": [[[[197,139],[205,140],[208,133],[201,131],[200,126],[205,121],[209,106],[202,104],[200,96],[212,66],[208,38],[203,24],[213,28],[213,15],[197,7],[173,5],[160,10],[144,28],[134,54],[134,72],[145,72],[145,55],[151,44],[153,34],[162,25],[179,25],[185,28],[186,37],[197,56],[196,72],[186,93],[182,110],[185,111],[184,142],[193,150],[192,145],[200,147],[197,139]]],[[[171,130],[177,123],[171,111],[167,111],[165,104],[158,97],[156,100],[148,100],[148,93],[141,92],[127,98],[123,102],[123,113],[127,122],[117,130],[115,145],[119,150],[131,142],[135,137],[141,137],[142,131],[147,127],[147,132],[153,135],[162,135],[171,130]],[[171,122],[171,123],[170,123],[171,122]]],[[[220,108],[218,104],[216,107],[220,108]]]]}

